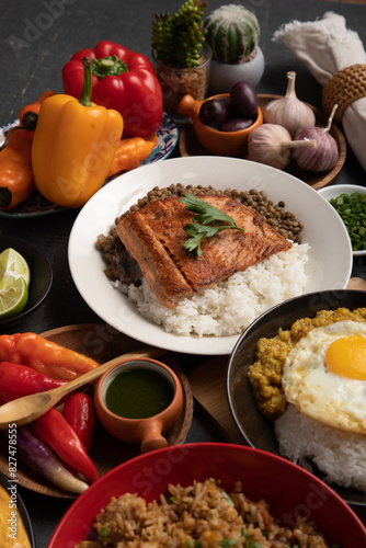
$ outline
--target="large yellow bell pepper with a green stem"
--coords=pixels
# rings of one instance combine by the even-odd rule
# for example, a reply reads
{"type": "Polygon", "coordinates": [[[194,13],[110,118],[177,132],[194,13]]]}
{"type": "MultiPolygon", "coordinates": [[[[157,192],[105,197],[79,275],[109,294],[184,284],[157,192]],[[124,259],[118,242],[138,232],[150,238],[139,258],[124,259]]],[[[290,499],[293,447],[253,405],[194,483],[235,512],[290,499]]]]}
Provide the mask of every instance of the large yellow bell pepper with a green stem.
{"type": "Polygon", "coordinates": [[[81,207],[102,186],[124,127],[118,112],[91,103],[91,61],[85,57],[83,64],[81,98],[56,94],[45,99],[32,146],[38,191],[66,207],[81,207]]]}

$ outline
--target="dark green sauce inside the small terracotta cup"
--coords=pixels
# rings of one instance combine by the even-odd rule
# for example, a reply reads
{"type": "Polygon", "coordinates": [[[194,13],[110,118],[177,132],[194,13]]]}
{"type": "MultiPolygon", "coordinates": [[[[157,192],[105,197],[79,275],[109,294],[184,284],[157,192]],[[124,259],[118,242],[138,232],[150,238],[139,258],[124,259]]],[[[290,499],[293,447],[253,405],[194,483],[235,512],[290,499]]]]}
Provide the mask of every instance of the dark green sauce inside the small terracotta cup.
{"type": "Polygon", "coordinates": [[[105,404],[118,416],[147,419],[168,408],[173,397],[174,388],[164,375],[138,367],[114,377],[106,389],[105,404]]]}

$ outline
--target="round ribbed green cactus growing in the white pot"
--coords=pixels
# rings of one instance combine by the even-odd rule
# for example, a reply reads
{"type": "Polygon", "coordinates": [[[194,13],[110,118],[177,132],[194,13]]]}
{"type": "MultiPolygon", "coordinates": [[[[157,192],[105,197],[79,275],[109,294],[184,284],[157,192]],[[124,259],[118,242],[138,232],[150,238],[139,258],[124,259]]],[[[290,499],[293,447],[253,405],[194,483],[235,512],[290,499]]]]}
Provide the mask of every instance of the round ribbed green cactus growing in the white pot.
{"type": "Polygon", "coordinates": [[[243,5],[221,5],[207,16],[204,26],[207,30],[206,42],[213,49],[213,59],[241,64],[255,56],[260,26],[254,13],[243,5]]]}

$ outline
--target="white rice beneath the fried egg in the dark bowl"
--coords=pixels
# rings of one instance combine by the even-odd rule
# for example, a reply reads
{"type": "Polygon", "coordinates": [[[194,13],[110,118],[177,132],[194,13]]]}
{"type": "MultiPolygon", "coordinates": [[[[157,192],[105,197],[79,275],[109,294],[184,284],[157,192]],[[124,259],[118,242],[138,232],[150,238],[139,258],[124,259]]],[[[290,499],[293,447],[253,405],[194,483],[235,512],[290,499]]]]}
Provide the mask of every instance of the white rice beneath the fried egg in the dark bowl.
{"type": "Polygon", "coordinates": [[[275,422],[279,452],[305,468],[306,459],[325,477],[324,481],[366,491],[366,435],[328,426],[288,404],[275,422]]]}

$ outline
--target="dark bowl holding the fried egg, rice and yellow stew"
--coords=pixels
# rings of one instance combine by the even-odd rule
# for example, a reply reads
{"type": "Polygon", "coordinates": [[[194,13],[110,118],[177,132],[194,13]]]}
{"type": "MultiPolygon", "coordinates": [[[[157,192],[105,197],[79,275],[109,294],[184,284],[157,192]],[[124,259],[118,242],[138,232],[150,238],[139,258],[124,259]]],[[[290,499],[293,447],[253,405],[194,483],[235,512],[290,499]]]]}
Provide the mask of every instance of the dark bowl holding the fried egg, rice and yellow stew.
{"type": "MultiPolygon", "coordinates": [[[[325,290],[286,300],[260,316],[238,340],[228,364],[227,396],[233,421],[248,445],[279,455],[274,424],[260,413],[248,379],[259,340],[276,336],[279,328],[286,330],[300,318],[313,318],[319,310],[339,307],[366,307],[366,292],[325,290]]],[[[318,476],[322,477],[320,472],[318,476]]],[[[345,501],[366,505],[366,493],[336,486],[332,488],[345,501]]]]}

